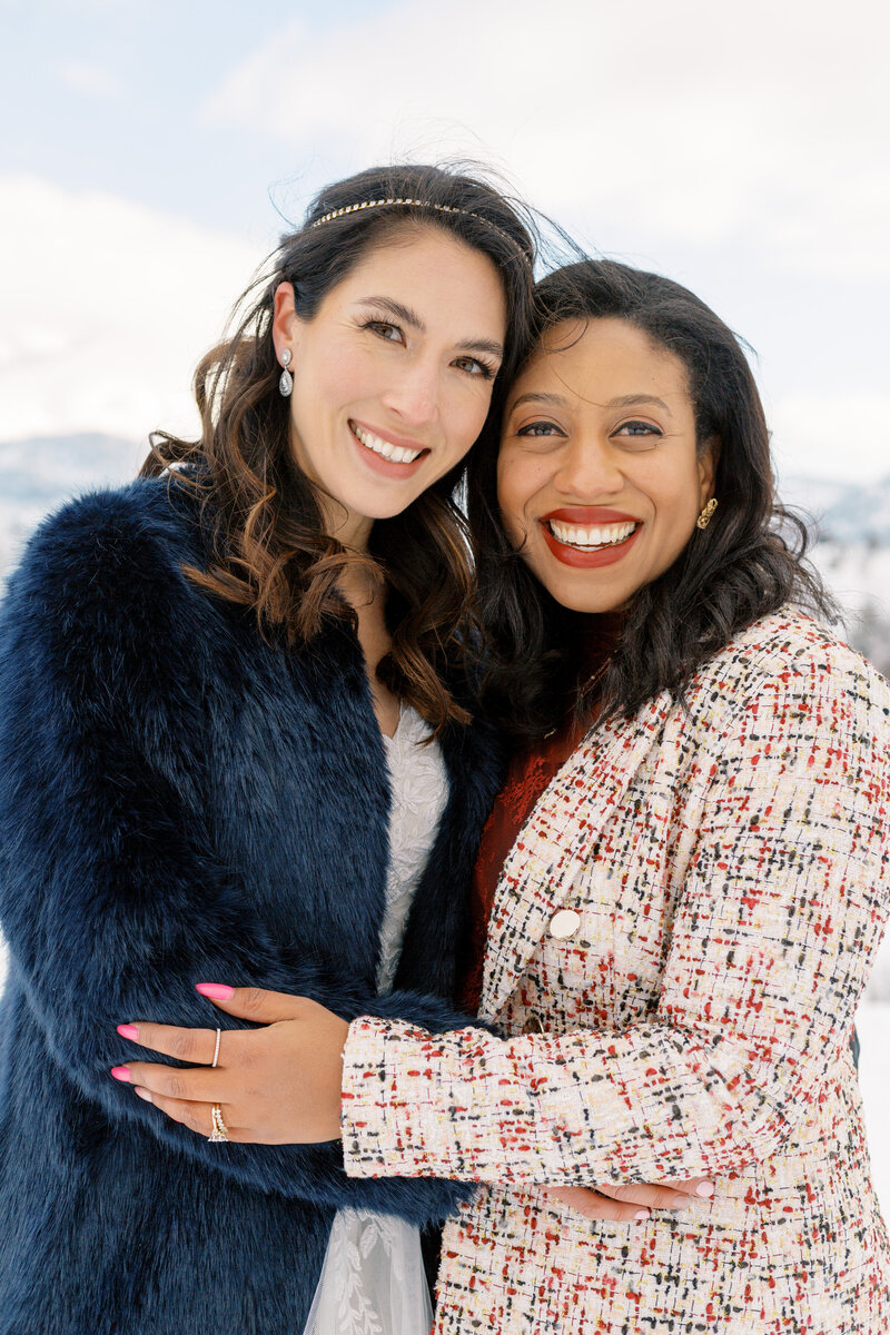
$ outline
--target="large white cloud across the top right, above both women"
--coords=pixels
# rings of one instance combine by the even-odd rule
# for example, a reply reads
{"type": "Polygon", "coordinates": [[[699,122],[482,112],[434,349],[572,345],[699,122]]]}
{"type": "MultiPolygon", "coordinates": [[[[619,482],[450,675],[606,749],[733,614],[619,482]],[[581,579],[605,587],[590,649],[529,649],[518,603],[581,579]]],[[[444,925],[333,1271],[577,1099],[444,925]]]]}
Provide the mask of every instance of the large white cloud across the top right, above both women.
{"type": "Polygon", "coordinates": [[[204,115],[362,166],[482,152],[594,242],[743,238],[790,268],[887,276],[887,15],[871,0],[399,0],[343,31],[296,21],[204,115]]]}

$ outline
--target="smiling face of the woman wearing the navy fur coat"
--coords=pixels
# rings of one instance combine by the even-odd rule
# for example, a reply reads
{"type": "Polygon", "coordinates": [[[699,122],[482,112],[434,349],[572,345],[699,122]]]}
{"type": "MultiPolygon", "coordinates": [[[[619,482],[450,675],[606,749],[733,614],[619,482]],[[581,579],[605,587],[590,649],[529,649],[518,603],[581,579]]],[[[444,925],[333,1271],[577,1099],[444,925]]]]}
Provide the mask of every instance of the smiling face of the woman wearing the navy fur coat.
{"type": "Polygon", "coordinates": [[[336,505],[328,530],[363,547],[448,473],[488,414],[507,315],[492,262],[438,228],[368,250],[306,320],[294,288],[275,298],[274,338],[291,350],[296,462],[336,505]]]}

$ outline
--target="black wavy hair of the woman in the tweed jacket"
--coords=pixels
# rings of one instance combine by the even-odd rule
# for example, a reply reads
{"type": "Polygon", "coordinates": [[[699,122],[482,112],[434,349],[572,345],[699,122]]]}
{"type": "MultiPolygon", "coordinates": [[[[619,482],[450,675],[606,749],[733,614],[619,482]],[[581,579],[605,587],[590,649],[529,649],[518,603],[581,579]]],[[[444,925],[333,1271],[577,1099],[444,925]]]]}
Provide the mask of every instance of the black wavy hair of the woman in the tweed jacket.
{"type": "MultiPolygon", "coordinates": [[[[718,442],[710,526],[639,589],[619,618],[599,684],[600,720],[631,717],[662,690],[682,700],[693,673],[734,635],[789,601],[827,619],[837,609],[803,561],[807,530],[778,503],[761,396],[733,331],[687,288],[611,260],[579,260],[536,288],[538,340],[563,320],[620,319],[686,367],[699,451],[718,442]]],[[[559,606],[511,547],[496,497],[496,447],[470,461],[468,515],[490,658],[486,712],[516,740],[558,728],[592,700],[582,682],[583,630],[595,618],[559,606]]]]}

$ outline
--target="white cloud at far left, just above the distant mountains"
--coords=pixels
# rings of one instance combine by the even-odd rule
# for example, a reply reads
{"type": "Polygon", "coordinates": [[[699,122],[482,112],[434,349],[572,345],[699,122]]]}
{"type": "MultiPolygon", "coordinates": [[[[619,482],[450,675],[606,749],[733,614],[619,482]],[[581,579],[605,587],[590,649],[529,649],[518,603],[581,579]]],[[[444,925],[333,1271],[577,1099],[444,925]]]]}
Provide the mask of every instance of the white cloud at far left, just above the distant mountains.
{"type": "Polygon", "coordinates": [[[262,256],[112,195],[0,178],[0,439],[193,431],[191,375],[262,256]]]}

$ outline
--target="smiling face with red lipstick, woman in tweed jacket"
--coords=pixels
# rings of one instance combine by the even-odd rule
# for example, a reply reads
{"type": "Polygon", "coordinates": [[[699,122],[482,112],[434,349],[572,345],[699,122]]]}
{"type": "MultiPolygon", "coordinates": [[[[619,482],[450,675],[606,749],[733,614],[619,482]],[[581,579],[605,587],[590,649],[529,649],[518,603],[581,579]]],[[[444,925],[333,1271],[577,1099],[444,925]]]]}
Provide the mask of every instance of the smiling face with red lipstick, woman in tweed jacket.
{"type": "Polygon", "coordinates": [[[674,563],[711,495],[686,367],[620,319],[555,326],[514,384],[498,457],[512,545],[556,602],[622,607],[674,563]]]}

